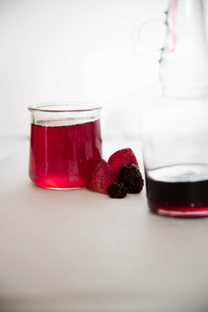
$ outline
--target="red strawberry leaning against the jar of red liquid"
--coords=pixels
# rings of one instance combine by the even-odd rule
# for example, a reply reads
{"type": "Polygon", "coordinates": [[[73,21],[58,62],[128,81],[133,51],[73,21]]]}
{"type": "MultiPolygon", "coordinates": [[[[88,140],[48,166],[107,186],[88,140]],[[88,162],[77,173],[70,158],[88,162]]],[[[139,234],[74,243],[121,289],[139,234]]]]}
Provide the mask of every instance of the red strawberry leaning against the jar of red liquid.
{"type": "Polygon", "coordinates": [[[90,190],[108,194],[108,187],[115,182],[118,182],[118,178],[104,159],[100,158],[94,163],[88,177],[90,190]]]}

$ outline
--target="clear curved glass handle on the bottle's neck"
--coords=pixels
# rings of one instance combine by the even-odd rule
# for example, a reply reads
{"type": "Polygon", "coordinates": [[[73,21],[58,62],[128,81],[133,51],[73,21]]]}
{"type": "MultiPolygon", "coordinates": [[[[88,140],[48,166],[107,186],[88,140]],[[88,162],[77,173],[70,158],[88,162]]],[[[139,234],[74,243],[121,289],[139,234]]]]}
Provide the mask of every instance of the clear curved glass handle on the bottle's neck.
{"type": "Polygon", "coordinates": [[[133,41],[134,41],[134,49],[133,49],[133,55],[134,56],[149,56],[151,58],[156,59],[157,61],[160,61],[161,55],[162,55],[162,49],[157,50],[151,50],[151,48],[147,48],[143,45],[140,39],[140,32],[142,27],[150,22],[150,21],[160,21],[163,23],[167,23],[167,13],[162,12],[152,12],[147,13],[143,15],[138,21],[135,23],[133,27],[133,41]]]}

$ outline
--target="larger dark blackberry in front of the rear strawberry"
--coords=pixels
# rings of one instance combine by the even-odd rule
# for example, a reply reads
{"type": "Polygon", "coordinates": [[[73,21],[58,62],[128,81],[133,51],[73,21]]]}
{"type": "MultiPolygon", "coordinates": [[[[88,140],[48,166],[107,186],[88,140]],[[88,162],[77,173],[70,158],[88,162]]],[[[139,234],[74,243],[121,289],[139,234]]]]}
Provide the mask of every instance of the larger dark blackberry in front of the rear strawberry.
{"type": "Polygon", "coordinates": [[[128,193],[140,193],[144,186],[144,180],[139,168],[134,163],[123,165],[120,170],[119,182],[124,183],[128,193]]]}

